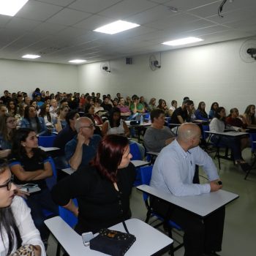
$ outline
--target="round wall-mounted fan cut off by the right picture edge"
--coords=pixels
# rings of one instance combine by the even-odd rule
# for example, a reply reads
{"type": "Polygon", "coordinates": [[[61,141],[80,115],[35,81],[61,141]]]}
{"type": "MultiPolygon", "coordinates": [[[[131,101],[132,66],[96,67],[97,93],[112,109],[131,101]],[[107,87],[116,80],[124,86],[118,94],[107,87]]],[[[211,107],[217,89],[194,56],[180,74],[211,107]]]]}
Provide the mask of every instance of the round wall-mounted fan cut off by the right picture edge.
{"type": "Polygon", "coordinates": [[[242,61],[251,63],[256,61],[256,39],[251,38],[244,41],[239,51],[242,61]]]}

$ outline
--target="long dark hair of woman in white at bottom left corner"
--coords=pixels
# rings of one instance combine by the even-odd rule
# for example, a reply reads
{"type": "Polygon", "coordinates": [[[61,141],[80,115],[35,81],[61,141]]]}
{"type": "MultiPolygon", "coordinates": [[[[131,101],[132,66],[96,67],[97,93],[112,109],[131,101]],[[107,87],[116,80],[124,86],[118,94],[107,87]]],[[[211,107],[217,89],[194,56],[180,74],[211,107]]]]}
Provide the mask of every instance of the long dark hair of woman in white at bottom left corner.
{"type": "MultiPolygon", "coordinates": [[[[0,175],[8,169],[7,162],[4,159],[0,159],[0,175]]],[[[1,240],[4,241],[3,230],[7,233],[9,248],[7,255],[10,255],[12,249],[15,246],[15,238],[17,241],[17,247],[21,246],[20,232],[18,230],[15,218],[12,214],[11,206],[0,208],[0,234],[1,240]]]]}

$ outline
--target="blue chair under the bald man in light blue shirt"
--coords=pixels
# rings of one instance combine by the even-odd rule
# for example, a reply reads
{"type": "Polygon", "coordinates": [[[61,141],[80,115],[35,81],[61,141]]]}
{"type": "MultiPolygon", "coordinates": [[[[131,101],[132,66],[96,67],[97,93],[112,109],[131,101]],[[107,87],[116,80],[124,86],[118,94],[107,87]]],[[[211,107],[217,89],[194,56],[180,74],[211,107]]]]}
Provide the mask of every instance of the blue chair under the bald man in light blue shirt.
{"type": "MultiPolygon", "coordinates": [[[[152,176],[152,170],[153,165],[143,166],[140,167],[140,177],[141,177],[141,183],[145,185],[149,185],[151,181],[152,176]]],[[[167,225],[167,230],[170,238],[173,238],[172,230],[175,228],[176,230],[181,231],[181,227],[178,226],[175,222],[171,221],[170,219],[167,219],[164,216],[160,216],[159,214],[154,213],[154,208],[151,206],[150,200],[148,198],[148,194],[146,192],[143,192],[143,200],[145,202],[146,208],[147,208],[147,214],[146,214],[146,220],[145,222],[148,223],[149,219],[151,217],[157,217],[161,222],[157,225],[154,225],[154,227],[159,227],[160,225],[167,225]]],[[[179,234],[178,234],[179,235],[179,234]]],[[[173,247],[173,244],[170,246],[170,255],[174,256],[174,252],[176,252],[178,249],[180,249],[182,246],[184,246],[184,243],[179,243],[178,246],[175,248],[173,247]]]]}

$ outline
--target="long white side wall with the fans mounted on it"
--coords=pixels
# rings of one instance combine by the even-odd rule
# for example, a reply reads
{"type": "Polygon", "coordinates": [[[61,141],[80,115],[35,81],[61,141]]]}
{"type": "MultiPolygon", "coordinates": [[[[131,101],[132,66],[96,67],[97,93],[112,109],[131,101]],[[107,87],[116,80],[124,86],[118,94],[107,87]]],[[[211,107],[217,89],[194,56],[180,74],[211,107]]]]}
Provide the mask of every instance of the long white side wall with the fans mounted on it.
{"type": "Polygon", "coordinates": [[[82,92],[101,92],[115,97],[116,92],[127,96],[143,95],[163,98],[170,105],[172,99],[181,104],[188,96],[195,102],[206,102],[227,108],[237,107],[241,113],[246,105],[256,104],[256,63],[241,60],[239,50],[245,39],[220,42],[180,50],[156,53],[161,57],[161,69],[151,71],[150,54],[133,56],[132,65],[125,58],[110,61],[111,72],[101,69],[102,63],[78,67],[78,86],[82,92]]]}

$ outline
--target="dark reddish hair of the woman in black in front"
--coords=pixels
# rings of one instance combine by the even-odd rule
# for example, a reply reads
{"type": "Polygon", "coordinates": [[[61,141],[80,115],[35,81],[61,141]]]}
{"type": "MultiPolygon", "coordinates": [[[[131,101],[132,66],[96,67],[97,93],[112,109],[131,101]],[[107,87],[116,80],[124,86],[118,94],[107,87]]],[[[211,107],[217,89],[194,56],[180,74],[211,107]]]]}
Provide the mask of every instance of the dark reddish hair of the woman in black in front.
{"type": "Polygon", "coordinates": [[[121,135],[106,135],[99,143],[97,154],[90,165],[96,167],[102,176],[116,182],[116,170],[121,163],[129,140],[121,135]]]}

